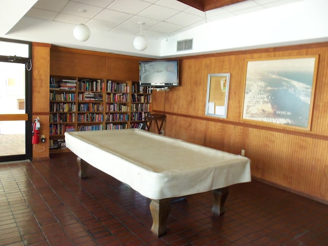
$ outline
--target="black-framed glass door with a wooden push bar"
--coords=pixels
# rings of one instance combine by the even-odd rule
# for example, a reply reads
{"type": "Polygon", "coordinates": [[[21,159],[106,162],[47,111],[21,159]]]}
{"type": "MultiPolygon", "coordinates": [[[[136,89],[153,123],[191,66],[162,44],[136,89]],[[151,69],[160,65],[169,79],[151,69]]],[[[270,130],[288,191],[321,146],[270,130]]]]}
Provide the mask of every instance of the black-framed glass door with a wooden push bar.
{"type": "MultiPolygon", "coordinates": [[[[0,53],[3,43],[0,42],[0,53]]],[[[14,54],[15,50],[12,52],[14,54]]],[[[32,156],[31,84],[27,64],[28,58],[0,55],[0,162],[31,159],[32,156]]]]}

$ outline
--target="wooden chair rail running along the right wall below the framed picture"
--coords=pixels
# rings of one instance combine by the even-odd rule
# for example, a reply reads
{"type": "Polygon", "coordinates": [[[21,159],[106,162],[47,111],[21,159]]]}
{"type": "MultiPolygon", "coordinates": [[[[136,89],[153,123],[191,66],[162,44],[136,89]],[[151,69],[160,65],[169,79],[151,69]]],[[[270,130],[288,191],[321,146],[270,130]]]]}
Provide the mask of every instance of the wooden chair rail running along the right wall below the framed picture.
{"type": "Polygon", "coordinates": [[[253,128],[253,129],[257,129],[257,130],[264,130],[264,131],[271,131],[271,132],[279,132],[279,133],[283,133],[283,134],[302,136],[302,137],[308,137],[308,138],[313,138],[313,139],[328,140],[328,136],[324,136],[324,135],[318,135],[318,134],[313,134],[313,133],[308,133],[308,132],[295,132],[295,131],[286,130],[286,129],[277,129],[277,128],[271,128],[271,127],[265,127],[265,126],[258,126],[258,125],[247,124],[244,122],[235,122],[235,121],[219,119],[219,118],[210,118],[210,117],[205,117],[205,116],[202,117],[202,116],[195,116],[195,115],[188,115],[188,114],[178,114],[178,113],[173,113],[173,112],[163,112],[163,111],[159,111],[159,110],[153,110],[153,113],[173,115],[173,116],[191,118],[191,119],[199,119],[199,120],[211,121],[211,122],[218,122],[218,123],[233,125],[233,126],[238,126],[238,127],[253,128]]]}

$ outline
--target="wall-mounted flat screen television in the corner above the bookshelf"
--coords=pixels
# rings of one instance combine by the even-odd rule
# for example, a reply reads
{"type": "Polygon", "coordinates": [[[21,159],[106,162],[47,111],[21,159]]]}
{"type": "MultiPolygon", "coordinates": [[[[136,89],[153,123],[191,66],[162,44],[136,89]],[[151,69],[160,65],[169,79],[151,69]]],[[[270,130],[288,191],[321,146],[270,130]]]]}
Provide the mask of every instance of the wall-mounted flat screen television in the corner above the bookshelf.
{"type": "Polygon", "coordinates": [[[140,86],[166,88],[179,86],[178,60],[139,61],[140,86]]]}

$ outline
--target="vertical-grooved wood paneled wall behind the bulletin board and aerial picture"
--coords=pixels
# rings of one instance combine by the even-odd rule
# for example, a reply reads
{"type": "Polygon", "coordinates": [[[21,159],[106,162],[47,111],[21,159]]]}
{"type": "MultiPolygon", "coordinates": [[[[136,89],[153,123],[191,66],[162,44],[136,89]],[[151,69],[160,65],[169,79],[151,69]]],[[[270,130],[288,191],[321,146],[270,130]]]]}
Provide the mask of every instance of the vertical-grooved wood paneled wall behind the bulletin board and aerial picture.
{"type": "Polygon", "coordinates": [[[153,111],[167,115],[165,135],[240,154],[254,178],[328,203],[328,43],[218,53],[180,59],[180,86],[154,91],[153,111]],[[241,119],[247,59],[319,55],[310,131],[241,119]],[[210,73],[230,73],[226,119],[205,116],[210,73]]]}

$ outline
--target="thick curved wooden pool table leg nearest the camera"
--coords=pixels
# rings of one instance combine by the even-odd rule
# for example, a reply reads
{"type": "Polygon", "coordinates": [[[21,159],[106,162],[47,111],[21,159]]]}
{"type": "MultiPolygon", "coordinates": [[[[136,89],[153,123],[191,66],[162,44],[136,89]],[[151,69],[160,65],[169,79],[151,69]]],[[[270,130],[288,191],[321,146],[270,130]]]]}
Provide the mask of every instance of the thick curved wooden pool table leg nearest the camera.
{"type": "Polygon", "coordinates": [[[167,231],[166,220],[169,217],[171,210],[170,201],[172,199],[152,200],[150,202],[150,212],[153,217],[152,232],[158,237],[165,234],[167,231]]]}

